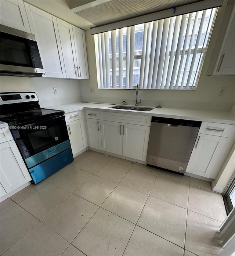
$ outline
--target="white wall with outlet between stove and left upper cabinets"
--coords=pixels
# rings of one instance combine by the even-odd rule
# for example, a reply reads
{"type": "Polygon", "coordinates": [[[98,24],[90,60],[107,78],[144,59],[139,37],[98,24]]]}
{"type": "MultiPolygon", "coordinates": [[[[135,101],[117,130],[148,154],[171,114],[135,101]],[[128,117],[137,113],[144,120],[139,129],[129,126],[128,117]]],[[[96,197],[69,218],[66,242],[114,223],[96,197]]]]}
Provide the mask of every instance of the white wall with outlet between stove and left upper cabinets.
{"type": "Polygon", "coordinates": [[[79,81],[72,79],[1,76],[0,91],[35,91],[41,107],[81,101],[79,81]],[[58,95],[53,87],[57,87],[58,95]]]}

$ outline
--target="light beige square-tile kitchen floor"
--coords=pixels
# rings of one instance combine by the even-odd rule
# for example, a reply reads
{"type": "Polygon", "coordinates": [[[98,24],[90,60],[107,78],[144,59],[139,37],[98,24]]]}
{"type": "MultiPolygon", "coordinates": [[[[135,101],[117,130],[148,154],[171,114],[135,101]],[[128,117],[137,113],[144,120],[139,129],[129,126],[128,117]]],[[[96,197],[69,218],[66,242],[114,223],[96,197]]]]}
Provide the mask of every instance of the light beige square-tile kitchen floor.
{"type": "Polygon", "coordinates": [[[211,256],[226,213],[210,183],[87,150],[0,204],[3,256],[211,256]]]}

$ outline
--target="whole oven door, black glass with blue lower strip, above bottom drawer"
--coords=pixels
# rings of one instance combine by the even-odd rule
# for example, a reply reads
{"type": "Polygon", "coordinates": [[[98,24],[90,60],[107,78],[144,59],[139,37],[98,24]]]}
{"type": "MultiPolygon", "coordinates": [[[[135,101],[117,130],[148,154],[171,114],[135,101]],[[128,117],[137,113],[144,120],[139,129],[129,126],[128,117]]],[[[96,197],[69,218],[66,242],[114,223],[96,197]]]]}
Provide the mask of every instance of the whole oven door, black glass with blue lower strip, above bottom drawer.
{"type": "Polygon", "coordinates": [[[65,116],[21,124],[12,136],[28,168],[71,148],[65,116]]]}

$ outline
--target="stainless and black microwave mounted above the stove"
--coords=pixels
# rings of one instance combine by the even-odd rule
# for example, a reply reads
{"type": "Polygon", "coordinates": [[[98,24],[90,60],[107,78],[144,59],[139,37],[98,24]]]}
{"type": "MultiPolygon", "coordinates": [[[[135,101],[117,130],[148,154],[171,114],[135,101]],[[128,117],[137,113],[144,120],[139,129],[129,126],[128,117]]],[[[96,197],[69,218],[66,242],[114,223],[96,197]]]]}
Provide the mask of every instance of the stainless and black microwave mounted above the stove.
{"type": "Polygon", "coordinates": [[[42,76],[44,73],[35,35],[0,26],[1,76],[42,76]]]}

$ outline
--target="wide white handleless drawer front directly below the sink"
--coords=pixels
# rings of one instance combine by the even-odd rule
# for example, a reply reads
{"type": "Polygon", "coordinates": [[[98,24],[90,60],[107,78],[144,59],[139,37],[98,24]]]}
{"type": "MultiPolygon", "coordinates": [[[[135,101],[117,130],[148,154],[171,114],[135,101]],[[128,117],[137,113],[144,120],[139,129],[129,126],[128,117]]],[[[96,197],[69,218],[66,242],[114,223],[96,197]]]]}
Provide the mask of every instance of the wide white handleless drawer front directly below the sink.
{"type": "Polygon", "coordinates": [[[112,122],[129,123],[131,125],[151,125],[151,116],[133,115],[114,112],[100,112],[100,119],[112,122]]]}

